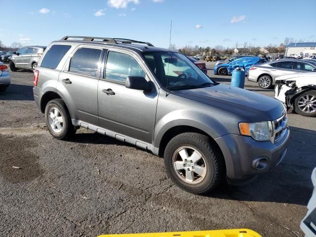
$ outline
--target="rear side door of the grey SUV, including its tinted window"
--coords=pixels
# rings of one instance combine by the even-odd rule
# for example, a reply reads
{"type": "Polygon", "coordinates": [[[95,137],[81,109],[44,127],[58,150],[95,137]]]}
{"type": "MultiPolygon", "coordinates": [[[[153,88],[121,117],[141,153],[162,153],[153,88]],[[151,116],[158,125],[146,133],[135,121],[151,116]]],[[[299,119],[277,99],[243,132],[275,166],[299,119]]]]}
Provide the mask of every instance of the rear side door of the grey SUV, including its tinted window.
{"type": "Polygon", "coordinates": [[[71,103],[72,118],[98,125],[97,88],[104,50],[79,46],[60,73],[56,89],[71,103]]]}

